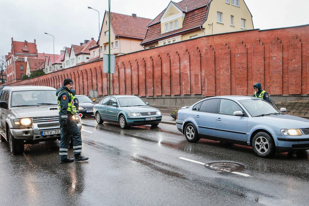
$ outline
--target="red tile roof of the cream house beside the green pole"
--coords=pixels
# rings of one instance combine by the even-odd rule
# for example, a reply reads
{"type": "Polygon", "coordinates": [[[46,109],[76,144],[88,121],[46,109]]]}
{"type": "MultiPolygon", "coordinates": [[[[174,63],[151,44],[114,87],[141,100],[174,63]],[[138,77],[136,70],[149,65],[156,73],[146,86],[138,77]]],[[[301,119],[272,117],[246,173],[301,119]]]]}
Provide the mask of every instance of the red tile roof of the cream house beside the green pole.
{"type": "MultiPolygon", "coordinates": [[[[105,12],[108,15],[108,11],[105,12]]],[[[111,12],[111,26],[116,36],[142,40],[150,22],[151,19],[111,12]]]]}

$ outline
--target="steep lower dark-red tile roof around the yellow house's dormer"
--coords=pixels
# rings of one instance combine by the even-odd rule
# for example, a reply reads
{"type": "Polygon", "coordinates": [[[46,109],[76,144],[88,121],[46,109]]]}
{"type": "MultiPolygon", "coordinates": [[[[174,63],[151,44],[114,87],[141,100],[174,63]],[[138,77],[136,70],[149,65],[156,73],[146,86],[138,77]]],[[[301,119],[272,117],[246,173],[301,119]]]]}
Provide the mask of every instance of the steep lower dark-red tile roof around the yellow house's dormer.
{"type": "Polygon", "coordinates": [[[183,27],[163,34],[161,34],[160,23],[148,26],[148,30],[146,32],[145,39],[142,41],[142,44],[145,45],[146,42],[150,42],[152,40],[157,41],[159,39],[168,38],[168,36],[176,35],[176,33],[180,32],[186,32],[186,30],[190,32],[191,29],[200,27],[204,23],[206,19],[206,14],[207,14],[206,6],[188,11],[184,18],[183,27]]]}

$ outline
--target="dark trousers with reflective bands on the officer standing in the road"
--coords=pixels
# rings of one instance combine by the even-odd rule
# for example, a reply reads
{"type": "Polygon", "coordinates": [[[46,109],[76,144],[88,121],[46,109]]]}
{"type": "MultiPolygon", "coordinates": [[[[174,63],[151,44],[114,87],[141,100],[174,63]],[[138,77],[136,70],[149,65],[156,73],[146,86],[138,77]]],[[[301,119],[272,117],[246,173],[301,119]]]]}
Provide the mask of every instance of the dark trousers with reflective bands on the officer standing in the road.
{"type": "Polygon", "coordinates": [[[61,128],[61,139],[60,139],[60,149],[59,155],[60,160],[63,160],[68,155],[68,148],[70,140],[73,140],[73,150],[74,155],[80,154],[82,152],[82,138],[78,129],[78,126],[74,120],[72,120],[72,115],[68,115],[68,126],[62,126],[62,119],[59,116],[60,128],[61,128]]]}

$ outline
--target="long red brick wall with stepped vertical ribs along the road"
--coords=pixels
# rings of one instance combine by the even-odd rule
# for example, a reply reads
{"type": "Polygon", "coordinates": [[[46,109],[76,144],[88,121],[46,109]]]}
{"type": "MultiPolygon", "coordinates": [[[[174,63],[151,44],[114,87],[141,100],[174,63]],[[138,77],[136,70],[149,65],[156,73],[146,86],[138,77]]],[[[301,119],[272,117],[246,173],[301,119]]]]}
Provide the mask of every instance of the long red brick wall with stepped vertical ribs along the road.
{"type": "MultiPolygon", "coordinates": [[[[270,95],[309,93],[309,25],[205,36],[116,57],[112,94],[139,96],[252,95],[260,82],[270,95]]],[[[60,87],[107,95],[108,75],[96,61],[14,85],[60,87]],[[79,84],[78,84],[79,82],[79,84]]]]}

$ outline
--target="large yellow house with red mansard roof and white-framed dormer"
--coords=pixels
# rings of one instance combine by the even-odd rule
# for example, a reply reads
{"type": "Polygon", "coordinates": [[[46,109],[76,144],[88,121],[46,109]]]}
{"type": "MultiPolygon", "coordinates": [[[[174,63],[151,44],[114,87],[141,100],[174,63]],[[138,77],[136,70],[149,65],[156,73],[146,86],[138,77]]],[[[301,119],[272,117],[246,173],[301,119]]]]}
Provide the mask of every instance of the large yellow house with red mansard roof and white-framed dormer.
{"type": "Polygon", "coordinates": [[[147,25],[141,45],[153,48],[199,36],[254,29],[244,0],[170,2],[147,25]]]}

